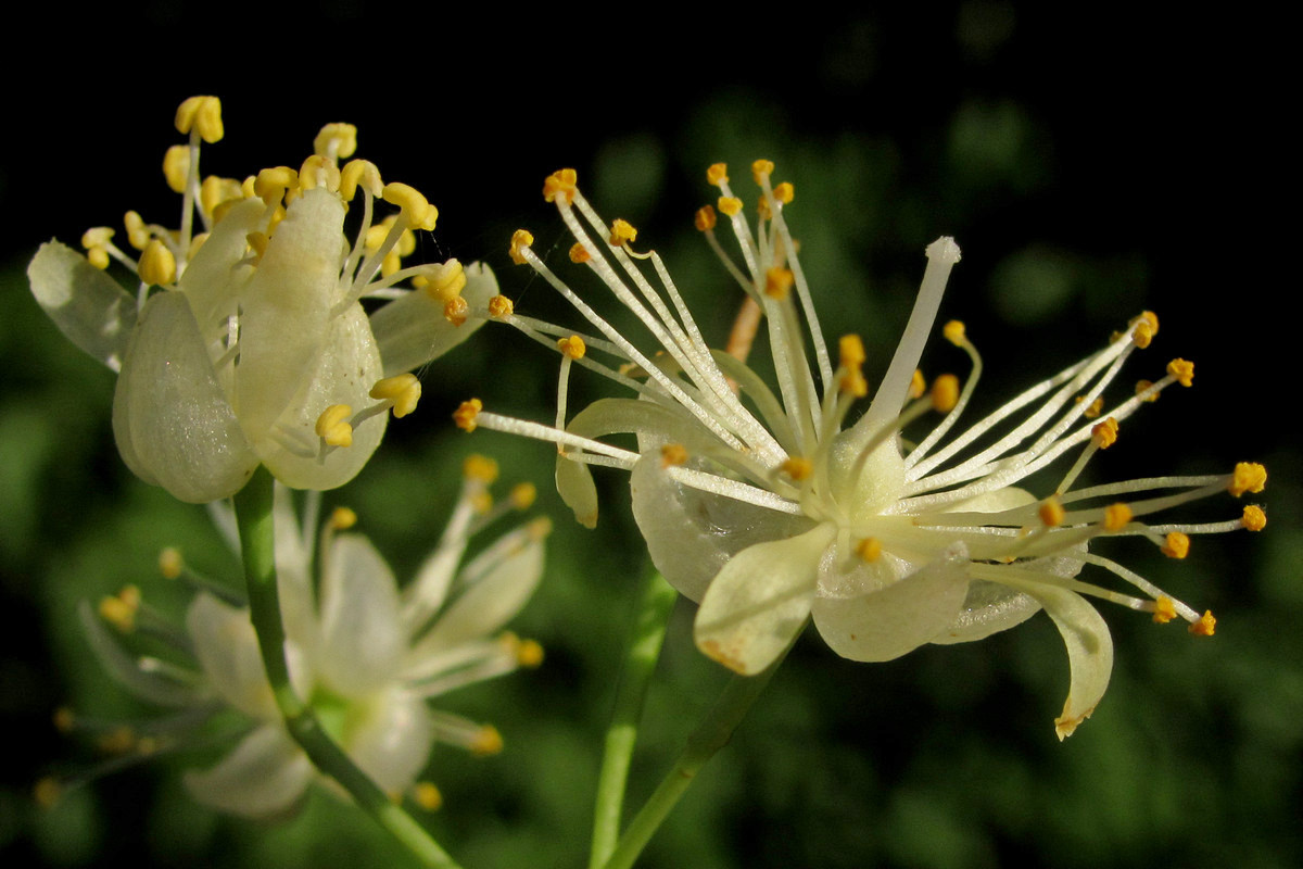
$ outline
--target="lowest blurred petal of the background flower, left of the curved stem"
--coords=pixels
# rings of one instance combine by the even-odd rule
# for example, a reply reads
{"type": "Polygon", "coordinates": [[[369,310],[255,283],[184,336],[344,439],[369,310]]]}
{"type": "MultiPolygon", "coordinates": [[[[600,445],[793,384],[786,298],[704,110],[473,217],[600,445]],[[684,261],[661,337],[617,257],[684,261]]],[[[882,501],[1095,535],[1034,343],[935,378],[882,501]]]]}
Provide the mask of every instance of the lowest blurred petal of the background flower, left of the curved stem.
{"type": "Polygon", "coordinates": [[[207,770],[189,770],[185,788],[199,803],[246,818],[292,808],[308,790],[313,765],[278,724],[265,724],[207,770]]]}

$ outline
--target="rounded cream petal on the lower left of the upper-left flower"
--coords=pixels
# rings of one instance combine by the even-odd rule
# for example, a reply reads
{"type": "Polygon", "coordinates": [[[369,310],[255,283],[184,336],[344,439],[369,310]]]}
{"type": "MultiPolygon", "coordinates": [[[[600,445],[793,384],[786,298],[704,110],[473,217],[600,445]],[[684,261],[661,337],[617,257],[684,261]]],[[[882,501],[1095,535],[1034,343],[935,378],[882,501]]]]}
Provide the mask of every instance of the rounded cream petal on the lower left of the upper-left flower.
{"type": "Polygon", "coordinates": [[[113,435],[141,479],[184,502],[233,495],[258,466],[180,293],[156,293],[141,311],[113,393],[113,435]]]}

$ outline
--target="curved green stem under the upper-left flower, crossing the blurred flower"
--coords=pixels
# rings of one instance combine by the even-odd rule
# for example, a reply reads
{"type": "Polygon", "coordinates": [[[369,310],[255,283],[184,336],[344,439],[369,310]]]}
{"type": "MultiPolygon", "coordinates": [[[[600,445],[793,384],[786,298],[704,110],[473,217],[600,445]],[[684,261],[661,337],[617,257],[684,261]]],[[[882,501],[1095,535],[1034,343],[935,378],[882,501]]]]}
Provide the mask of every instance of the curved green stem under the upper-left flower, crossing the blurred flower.
{"type": "Polygon", "coordinates": [[[276,588],[275,529],[272,525],[274,481],[266,468],[235,496],[240,546],[244,551],[249,611],[258,632],[262,666],[267,671],[276,706],[285,730],[304,749],[318,770],[330,775],[377,823],[403,843],[421,865],[433,869],[460,869],[457,862],[430,838],[403,806],[390,800],[375,782],[349,760],[348,754],[322,730],[311,706],[304,704],[289,683],[285,663],[285,629],[280,621],[280,595],[276,588]]]}

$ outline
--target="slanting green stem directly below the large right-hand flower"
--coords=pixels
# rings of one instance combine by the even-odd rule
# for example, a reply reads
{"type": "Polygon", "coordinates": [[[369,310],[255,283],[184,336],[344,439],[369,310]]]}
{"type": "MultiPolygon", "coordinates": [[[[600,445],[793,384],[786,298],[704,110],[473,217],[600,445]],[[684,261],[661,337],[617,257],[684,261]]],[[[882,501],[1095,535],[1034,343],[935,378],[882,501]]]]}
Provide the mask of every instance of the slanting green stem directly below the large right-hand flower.
{"type": "Polygon", "coordinates": [[[688,736],[688,743],[668,775],[661,780],[657,790],[648,797],[646,804],[629,822],[629,829],[620,836],[619,844],[603,869],[631,869],[633,861],[642,853],[642,848],[668,817],[670,810],[696,779],[701,767],[714,757],[715,752],[728,744],[734,730],[747,717],[752,704],[765,692],[765,687],[783,662],[783,657],[786,653],[761,674],[734,676],[728,680],[715,705],[688,736]]]}

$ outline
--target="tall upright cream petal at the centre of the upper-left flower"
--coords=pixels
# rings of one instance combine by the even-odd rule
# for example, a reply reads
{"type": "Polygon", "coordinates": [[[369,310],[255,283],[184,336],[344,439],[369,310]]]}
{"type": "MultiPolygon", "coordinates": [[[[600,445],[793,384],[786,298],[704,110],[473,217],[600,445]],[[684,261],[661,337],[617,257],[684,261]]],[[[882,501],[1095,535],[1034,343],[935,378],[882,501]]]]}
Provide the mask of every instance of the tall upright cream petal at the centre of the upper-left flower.
{"type": "Polygon", "coordinates": [[[236,391],[240,422],[255,443],[319,365],[339,288],[343,225],[337,194],[314,188],[294,199],[241,298],[236,391]]]}

